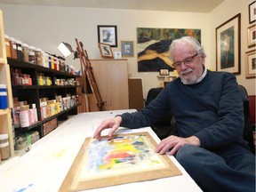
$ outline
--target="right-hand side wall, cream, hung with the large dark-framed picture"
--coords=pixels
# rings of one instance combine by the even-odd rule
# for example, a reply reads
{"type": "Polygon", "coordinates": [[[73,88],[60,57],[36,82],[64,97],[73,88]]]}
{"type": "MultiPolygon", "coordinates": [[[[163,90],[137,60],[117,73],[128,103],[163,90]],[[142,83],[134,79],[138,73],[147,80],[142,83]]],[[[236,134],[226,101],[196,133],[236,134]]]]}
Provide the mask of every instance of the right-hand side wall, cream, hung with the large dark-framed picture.
{"type": "MultiPolygon", "coordinates": [[[[255,78],[246,79],[245,78],[245,57],[244,52],[248,52],[253,48],[248,48],[247,44],[247,28],[252,26],[249,23],[249,11],[248,6],[253,0],[225,0],[212,12],[210,12],[210,52],[212,63],[216,63],[215,57],[215,28],[218,28],[222,23],[233,18],[236,14],[241,13],[241,75],[236,76],[238,84],[243,84],[247,89],[249,95],[255,95],[255,78]]],[[[255,49],[255,47],[254,47],[255,49]]],[[[216,68],[216,66],[215,66],[216,68]]],[[[214,69],[215,69],[214,68],[214,69]]]]}

